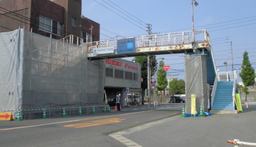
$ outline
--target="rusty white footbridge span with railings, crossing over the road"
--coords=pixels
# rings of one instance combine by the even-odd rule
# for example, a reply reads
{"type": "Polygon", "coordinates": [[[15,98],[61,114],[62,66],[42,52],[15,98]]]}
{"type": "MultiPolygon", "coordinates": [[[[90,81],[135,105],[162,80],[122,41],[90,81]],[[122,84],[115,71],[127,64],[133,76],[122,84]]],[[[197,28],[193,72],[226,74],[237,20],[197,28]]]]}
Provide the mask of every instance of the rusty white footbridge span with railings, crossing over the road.
{"type": "Polygon", "coordinates": [[[158,55],[192,52],[193,49],[206,49],[210,51],[210,38],[206,30],[195,31],[195,43],[192,41],[192,31],[155,34],[146,36],[135,36],[129,38],[112,39],[105,41],[92,42],[87,44],[88,58],[99,60],[106,58],[121,58],[142,55],[158,55]],[[117,42],[122,39],[135,38],[135,51],[128,53],[117,52],[117,42]],[[111,53],[96,53],[97,49],[111,48],[111,53]]]}

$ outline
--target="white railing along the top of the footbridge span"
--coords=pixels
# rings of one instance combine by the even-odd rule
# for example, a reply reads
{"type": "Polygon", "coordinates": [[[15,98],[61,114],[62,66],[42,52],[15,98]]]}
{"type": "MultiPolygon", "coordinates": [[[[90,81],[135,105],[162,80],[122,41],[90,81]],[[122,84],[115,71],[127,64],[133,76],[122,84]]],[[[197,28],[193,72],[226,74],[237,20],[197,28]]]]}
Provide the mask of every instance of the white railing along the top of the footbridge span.
{"type": "MultiPolygon", "coordinates": [[[[194,31],[194,33],[196,35],[195,42],[197,43],[208,42],[211,45],[209,34],[205,29],[196,30],[194,31]]],[[[134,36],[134,37],[128,37],[128,38],[135,38],[135,48],[168,46],[168,45],[191,43],[192,31],[145,35],[145,36],[134,36]]],[[[91,53],[93,52],[94,49],[97,49],[97,48],[109,48],[109,47],[116,48],[117,40],[128,39],[128,38],[91,42],[87,44],[88,45],[87,51],[91,53]]]]}

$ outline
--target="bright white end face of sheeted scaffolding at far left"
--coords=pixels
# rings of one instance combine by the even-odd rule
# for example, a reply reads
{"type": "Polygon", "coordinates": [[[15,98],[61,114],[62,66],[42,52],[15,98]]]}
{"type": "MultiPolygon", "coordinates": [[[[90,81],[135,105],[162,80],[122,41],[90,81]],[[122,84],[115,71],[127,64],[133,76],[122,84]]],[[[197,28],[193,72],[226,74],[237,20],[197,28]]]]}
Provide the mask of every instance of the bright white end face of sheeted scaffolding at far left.
{"type": "Polygon", "coordinates": [[[0,110],[22,104],[24,31],[0,33],[0,110]]]}

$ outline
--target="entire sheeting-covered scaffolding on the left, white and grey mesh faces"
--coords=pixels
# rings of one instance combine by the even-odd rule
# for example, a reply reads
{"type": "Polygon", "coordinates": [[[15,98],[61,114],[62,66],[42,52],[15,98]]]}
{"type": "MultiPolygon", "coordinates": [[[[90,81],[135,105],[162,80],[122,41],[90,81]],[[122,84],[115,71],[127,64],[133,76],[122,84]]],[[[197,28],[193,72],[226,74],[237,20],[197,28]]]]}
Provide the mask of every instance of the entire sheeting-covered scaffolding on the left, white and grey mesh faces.
{"type": "Polygon", "coordinates": [[[87,60],[86,44],[18,29],[0,33],[0,52],[0,110],[21,109],[32,119],[42,109],[58,117],[54,108],[103,104],[105,64],[87,60]]]}

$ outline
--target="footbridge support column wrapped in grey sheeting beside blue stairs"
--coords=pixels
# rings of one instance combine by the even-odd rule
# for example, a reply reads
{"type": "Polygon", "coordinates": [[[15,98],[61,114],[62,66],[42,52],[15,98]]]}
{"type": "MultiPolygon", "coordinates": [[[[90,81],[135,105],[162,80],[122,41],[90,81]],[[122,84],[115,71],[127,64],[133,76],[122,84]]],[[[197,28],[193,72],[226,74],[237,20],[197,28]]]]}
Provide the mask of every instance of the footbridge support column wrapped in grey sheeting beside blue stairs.
{"type": "Polygon", "coordinates": [[[186,108],[185,112],[191,114],[191,97],[195,94],[195,111],[200,113],[200,106],[204,112],[208,106],[208,88],[206,73],[206,58],[203,55],[185,57],[185,83],[186,83],[186,108]]]}

